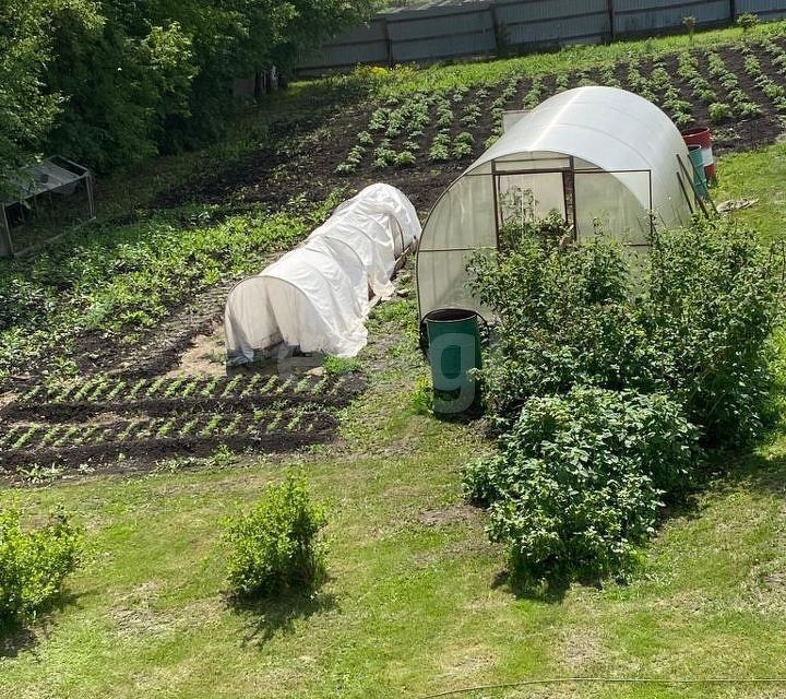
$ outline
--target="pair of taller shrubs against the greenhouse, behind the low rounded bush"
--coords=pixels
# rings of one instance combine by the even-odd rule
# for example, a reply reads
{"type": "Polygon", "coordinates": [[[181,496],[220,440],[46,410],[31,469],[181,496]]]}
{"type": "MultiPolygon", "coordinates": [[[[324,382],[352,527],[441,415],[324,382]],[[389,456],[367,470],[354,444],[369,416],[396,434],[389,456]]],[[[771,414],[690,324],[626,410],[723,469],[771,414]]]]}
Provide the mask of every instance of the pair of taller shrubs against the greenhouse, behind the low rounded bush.
{"type": "Polygon", "coordinates": [[[696,222],[652,244],[638,280],[603,235],[577,247],[524,237],[475,258],[473,288],[499,320],[479,372],[498,417],[586,384],[666,392],[712,446],[760,431],[779,313],[774,258],[731,224],[696,222]]]}

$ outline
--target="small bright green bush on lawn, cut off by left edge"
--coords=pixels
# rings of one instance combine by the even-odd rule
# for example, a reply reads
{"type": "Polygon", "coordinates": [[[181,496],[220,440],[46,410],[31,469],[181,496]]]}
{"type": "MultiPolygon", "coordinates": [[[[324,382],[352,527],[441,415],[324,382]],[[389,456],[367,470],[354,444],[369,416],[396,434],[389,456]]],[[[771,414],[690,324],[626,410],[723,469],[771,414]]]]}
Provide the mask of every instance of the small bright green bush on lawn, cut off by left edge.
{"type": "Polygon", "coordinates": [[[24,531],[19,509],[0,512],[0,623],[23,624],[45,612],[79,565],[81,535],[62,512],[24,531]]]}

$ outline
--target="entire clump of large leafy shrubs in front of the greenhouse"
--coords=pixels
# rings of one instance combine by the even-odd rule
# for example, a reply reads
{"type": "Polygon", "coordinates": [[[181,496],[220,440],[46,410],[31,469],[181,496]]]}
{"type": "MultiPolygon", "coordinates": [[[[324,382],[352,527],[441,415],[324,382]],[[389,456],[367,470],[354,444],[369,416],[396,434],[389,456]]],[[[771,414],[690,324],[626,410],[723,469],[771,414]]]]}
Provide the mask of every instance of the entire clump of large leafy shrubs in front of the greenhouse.
{"type": "Polygon", "coordinates": [[[471,264],[498,319],[478,378],[502,437],[465,486],[514,572],[618,574],[690,487],[698,445],[763,429],[778,258],[753,232],[695,222],[629,268],[619,244],[574,246],[553,225],[515,222],[471,264]]]}

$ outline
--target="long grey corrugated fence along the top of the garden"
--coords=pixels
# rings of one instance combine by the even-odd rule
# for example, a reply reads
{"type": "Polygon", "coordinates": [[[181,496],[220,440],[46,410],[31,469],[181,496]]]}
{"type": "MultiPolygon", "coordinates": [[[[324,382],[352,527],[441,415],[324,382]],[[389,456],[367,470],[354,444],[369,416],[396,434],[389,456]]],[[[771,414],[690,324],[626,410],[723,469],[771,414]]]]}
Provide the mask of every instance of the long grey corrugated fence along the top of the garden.
{"type": "Polygon", "coordinates": [[[358,64],[490,56],[618,36],[729,24],[753,12],[762,21],[786,16],[786,0],[437,0],[391,10],[326,44],[303,61],[305,75],[358,64]]]}

